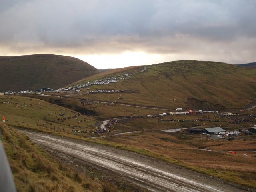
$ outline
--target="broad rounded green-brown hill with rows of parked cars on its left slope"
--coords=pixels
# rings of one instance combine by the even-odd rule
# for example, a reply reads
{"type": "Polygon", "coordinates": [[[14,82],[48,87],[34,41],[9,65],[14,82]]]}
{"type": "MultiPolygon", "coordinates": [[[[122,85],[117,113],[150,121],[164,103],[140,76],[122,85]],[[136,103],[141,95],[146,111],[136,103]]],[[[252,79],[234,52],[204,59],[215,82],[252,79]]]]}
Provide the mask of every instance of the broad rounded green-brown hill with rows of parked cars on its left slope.
{"type": "MultiPolygon", "coordinates": [[[[191,60],[146,67],[144,72],[130,75],[129,80],[120,80],[115,84],[93,85],[90,90],[138,90],[134,93],[122,93],[125,99],[123,102],[171,109],[236,110],[246,108],[256,100],[256,69],[220,62],[191,60]],[[199,106],[202,101],[205,101],[204,104],[199,106]]],[[[79,83],[122,73],[132,74],[143,68],[144,66],[137,66],[110,70],[79,83]]],[[[98,100],[111,97],[113,101],[120,97],[120,93],[95,95],[98,100]]]]}

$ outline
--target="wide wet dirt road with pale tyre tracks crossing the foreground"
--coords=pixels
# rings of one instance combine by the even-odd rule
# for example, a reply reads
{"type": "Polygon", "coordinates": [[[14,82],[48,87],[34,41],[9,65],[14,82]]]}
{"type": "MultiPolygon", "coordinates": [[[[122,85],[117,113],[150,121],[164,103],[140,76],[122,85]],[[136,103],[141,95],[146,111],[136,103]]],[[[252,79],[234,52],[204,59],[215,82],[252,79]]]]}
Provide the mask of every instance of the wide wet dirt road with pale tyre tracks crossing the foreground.
{"type": "Polygon", "coordinates": [[[88,164],[148,191],[244,192],[236,186],[184,168],[90,142],[19,130],[50,154],[79,167],[88,164]]]}

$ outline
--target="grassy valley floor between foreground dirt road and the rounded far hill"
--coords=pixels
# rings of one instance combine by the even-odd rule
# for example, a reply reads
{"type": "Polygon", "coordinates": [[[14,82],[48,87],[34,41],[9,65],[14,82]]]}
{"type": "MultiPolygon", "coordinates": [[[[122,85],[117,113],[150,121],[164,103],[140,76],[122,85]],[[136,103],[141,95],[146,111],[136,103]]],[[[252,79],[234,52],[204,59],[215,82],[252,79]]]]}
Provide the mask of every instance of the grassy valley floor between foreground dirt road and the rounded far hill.
{"type": "MultiPolygon", "coordinates": [[[[108,96],[110,95],[111,94],[108,96]]],[[[93,94],[89,96],[93,97],[93,94]]],[[[38,98],[42,98],[42,96],[38,98]]],[[[60,105],[70,106],[71,108],[74,106],[80,106],[80,100],[75,98],[44,98],[47,98],[46,100],[50,102],[56,102],[60,105]]],[[[96,117],[113,117],[116,114],[119,114],[120,116],[127,114],[129,116],[131,113],[134,116],[143,116],[147,113],[155,114],[159,111],[156,109],[135,108],[134,106],[118,106],[114,103],[101,105],[99,102],[89,102],[88,104],[90,105],[86,105],[84,107],[88,107],[88,109],[92,108],[90,110],[95,111],[96,117]]],[[[6,125],[131,150],[140,154],[152,156],[154,158],[159,158],[168,163],[178,164],[180,166],[208,174],[209,176],[222,178],[229,182],[235,182],[237,184],[252,188],[256,187],[256,170],[254,166],[255,158],[252,157],[255,155],[254,151],[256,150],[256,138],[254,135],[238,136],[233,141],[227,141],[206,138],[206,136],[202,134],[177,134],[175,132],[168,133],[161,131],[168,128],[192,126],[201,126],[201,128],[204,128],[204,126],[222,126],[225,130],[237,130],[238,128],[246,129],[251,124],[254,125],[256,123],[255,117],[253,116],[238,117],[238,119],[244,120],[242,124],[234,124],[229,122],[232,121],[232,116],[216,116],[216,118],[214,118],[214,114],[210,114],[211,119],[214,121],[201,120],[206,119],[206,114],[166,116],[161,118],[166,121],[158,121],[158,118],[146,117],[124,118],[121,120],[116,118],[119,123],[112,124],[112,127],[114,127],[114,132],[136,132],[114,137],[100,137],[114,133],[113,131],[95,135],[92,133],[71,133],[73,126],[78,130],[80,130],[78,126],[83,126],[84,130],[92,130],[96,123],[100,123],[100,121],[98,121],[96,117],[79,116],[77,120],[76,118],[72,118],[66,119],[64,122],[62,122],[57,120],[56,116],[61,118],[72,116],[72,114],[78,114],[77,112],[71,112],[70,109],[65,108],[64,111],[63,109],[64,107],[62,106],[57,106],[37,98],[0,96],[0,114],[5,116],[6,125]],[[24,106],[24,103],[26,103],[26,106],[24,106]],[[30,106],[30,104],[32,104],[32,106],[30,106]],[[64,112],[66,113],[65,116],[59,116],[60,113],[64,112]],[[84,118],[86,118],[86,120],[84,120],[84,118]],[[35,119],[38,119],[39,122],[36,122],[35,119]],[[170,119],[176,121],[168,121],[170,119]],[[83,122],[78,124],[79,120],[82,120],[83,122]],[[91,122],[88,124],[86,122],[87,120],[90,120],[91,122]],[[197,125],[192,123],[196,123],[197,125]],[[90,124],[93,124],[94,126],[90,127],[90,124]],[[54,126],[56,128],[60,127],[60,129],[54,130],[54,126]],[[65,132],[62,131],[63,129],[65,132]],[[66,130],[68,130],[68,133],[66,130]],[[92,140],[90,137],[98,137],[98,139],[92,140]],[[202,148],[207,148],[211,151],[205,151],[202,150],[202,148]],[[220,150],[223,151],[223,153],[220,152],[220,150]],[[227,151],[229,150],[237,150],[237,154],[228,154],[227,151]],[[248,156],[244,156],[244,154],[247,154],[248,156]],[[221,164],[219,162],[221,162],[221,164]]],[[[255,114],[255,110],[244,113],[255,114]]],[[[13,135],[16,135],[16,133],[13,135]]],[[[44,173],[40,172],[40,174],[44,173]]]]}

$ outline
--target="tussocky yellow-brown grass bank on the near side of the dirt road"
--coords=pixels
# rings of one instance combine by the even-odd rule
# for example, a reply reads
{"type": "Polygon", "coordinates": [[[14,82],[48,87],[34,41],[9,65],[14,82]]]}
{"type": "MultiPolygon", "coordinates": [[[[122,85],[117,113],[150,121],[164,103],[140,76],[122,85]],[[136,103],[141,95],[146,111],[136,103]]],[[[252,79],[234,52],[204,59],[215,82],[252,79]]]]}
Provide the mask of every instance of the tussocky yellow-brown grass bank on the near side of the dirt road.
{"type": "Polygon", "coordinates": [[[28,136],[0,122],[6,154],[18,192],[103,192],[116,191],[106,182],[100,183],[62,162],[55,162],[28,136]]]}

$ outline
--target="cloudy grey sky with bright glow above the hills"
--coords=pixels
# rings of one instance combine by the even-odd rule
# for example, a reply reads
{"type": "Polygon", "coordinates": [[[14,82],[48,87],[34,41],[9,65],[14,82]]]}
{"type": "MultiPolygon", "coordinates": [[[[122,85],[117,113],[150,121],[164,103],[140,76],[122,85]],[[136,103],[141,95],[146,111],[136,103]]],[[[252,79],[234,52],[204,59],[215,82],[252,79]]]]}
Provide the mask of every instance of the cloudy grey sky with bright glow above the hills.
{"type": "Polygon", "coordinates": [[[0,55],[58,54],[98,69],[256,62],[256,0],[1,0],[0,55]]]}

